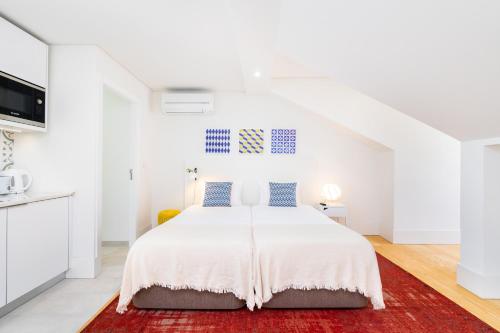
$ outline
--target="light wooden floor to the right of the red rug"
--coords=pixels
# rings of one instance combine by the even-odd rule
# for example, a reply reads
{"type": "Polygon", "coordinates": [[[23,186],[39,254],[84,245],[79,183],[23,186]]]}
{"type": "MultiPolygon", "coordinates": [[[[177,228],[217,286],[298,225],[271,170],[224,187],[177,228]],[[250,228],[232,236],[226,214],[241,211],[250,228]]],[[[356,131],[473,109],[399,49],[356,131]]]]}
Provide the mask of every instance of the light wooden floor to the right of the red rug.
{"type": "Polygon", "coordinates": [[[459,245],[399,245],[367,236],[375,250],[500,331],[500,300],[484,300],[456,283],[459,245]]]}

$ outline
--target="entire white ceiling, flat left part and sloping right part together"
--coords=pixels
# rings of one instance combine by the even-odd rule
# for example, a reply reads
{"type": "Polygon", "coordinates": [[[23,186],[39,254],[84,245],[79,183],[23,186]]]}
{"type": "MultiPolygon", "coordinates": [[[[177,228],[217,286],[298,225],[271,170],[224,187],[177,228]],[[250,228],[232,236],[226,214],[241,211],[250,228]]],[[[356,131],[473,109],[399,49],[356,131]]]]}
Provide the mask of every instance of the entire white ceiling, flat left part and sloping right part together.
{"type": "Polygon", "coordinates": [[[500,136],[498,0],[1,0],[0,14],[96,44],[155,90],[329,76],[458,139],[500,136]]]}

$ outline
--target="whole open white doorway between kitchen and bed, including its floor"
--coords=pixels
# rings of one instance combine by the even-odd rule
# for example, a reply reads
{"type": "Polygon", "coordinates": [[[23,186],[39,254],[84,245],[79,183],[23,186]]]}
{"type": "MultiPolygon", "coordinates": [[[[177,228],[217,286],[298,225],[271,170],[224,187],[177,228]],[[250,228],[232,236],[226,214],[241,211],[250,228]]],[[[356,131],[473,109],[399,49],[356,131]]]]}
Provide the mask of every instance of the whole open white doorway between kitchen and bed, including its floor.
{"type": "Polygon", "coordinates": [[[100,235],[98,235],[100,260],[110,253],[122,251],[124,247],[129,247],[135,241],[135,124],[134,103],[112,88],[104,86],[102,93],[102,207],[100,235]]]}

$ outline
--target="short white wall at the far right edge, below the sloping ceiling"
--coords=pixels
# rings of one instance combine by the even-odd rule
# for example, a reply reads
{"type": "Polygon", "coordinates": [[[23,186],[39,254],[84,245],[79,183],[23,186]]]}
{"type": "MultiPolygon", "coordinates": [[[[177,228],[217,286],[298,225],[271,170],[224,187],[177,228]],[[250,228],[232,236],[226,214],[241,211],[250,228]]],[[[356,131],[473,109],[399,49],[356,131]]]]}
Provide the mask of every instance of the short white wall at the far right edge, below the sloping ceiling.
{"type": "Polygon", "coordinates": [[[500,298],[500,138],[462,143],[461,207],[457,281],[500,298]]]}

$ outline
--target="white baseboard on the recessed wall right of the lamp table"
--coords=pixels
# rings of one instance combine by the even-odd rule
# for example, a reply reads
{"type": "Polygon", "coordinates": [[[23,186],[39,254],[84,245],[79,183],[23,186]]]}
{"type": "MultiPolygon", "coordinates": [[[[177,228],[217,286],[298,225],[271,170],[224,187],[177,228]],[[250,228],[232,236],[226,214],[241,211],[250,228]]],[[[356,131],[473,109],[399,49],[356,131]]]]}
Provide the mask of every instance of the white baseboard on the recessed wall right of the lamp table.
{"type": "Polygon", "coordinates": [[[394,230],[394,244],[460,244],[460,230],[394,230]]]}

